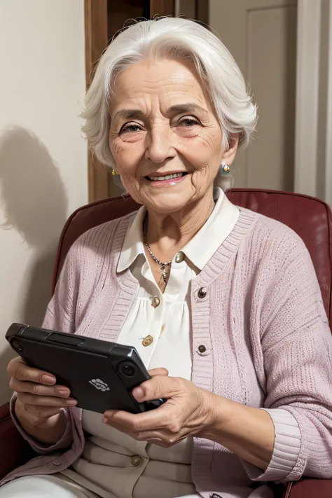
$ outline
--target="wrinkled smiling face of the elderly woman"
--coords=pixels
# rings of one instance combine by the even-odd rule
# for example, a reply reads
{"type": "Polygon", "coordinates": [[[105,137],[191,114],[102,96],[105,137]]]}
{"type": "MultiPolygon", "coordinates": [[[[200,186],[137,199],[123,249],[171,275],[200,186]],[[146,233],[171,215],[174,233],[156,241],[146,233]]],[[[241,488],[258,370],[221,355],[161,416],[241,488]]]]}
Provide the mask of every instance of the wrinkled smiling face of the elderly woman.
{"type": "Polygon", "coordinates": [[[144,60],[113,90],[109,145],[132,198],[166,214],[211,195],[222,132],[193,64],[144,60]]]}

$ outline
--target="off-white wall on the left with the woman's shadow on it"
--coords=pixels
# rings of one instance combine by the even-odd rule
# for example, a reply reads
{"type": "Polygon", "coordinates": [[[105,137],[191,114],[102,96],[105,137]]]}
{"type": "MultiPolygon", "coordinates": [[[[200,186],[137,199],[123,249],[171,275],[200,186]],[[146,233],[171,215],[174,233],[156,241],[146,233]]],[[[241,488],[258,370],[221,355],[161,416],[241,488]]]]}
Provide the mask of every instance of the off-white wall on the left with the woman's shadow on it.
{"type": "Polygon", "coordinates": [[[0,403],[6,330],[41,324],[60,231],[88,199],[84,90],[84,1],[1,0],[0,403]]]}

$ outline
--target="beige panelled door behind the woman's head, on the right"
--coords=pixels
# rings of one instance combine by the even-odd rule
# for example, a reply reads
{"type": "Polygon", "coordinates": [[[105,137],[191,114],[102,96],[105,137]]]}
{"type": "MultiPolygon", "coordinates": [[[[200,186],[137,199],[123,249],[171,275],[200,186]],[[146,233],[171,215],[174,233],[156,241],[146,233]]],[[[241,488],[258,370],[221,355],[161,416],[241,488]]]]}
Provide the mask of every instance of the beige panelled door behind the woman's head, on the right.
{"type": "Polygon", "coordinates": [[[209,0],[209,25],[258,105],[254,141],[232,168],[234,186],[293,191],[297,0],[209,0]]]}

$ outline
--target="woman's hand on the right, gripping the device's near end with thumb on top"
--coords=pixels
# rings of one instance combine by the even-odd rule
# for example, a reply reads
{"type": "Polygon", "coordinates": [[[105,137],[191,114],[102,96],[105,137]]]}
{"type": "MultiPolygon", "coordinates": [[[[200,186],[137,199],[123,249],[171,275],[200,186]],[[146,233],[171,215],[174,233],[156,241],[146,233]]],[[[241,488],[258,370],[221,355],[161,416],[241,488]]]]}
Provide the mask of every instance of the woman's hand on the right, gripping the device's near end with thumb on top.
{"type": "Polygon", "coordinates": [[[164,448],[188,436],[199,436],[214,420],[214,398],[190,380],[168,377],[165,368],[155,368],[146,380],[132,391],[141,401],[165,398],[159,408],[133,415],[121,410],[107,410],[103,422],[137,441],[149,441],[164,448]]]}

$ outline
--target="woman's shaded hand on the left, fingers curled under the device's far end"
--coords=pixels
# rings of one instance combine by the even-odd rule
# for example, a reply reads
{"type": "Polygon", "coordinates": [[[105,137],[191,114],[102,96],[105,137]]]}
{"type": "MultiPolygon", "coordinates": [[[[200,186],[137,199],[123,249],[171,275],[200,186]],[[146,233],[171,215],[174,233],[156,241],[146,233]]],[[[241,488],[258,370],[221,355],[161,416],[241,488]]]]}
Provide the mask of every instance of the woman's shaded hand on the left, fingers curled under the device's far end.
{"type": "Polygon", "coordinates": [[[22,427],[40,441],[56,442],[64,426],[64,417],[58,422],[62,408],[77,403],[70,398],[68,387],[56,385],[54,375],[27,366],[20,357],[9,362],[7,371],[9,385],[17,393],[15,415],[22,427]]]}

